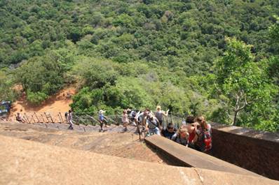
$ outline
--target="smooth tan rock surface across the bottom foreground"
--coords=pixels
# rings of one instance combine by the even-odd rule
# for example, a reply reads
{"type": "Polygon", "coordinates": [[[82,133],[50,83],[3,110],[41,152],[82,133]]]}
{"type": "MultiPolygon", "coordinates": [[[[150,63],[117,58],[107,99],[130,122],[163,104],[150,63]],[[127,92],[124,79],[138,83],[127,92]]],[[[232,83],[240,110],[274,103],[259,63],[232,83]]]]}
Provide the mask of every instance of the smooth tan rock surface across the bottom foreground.
{"type": "Polygon", "coordinates": [[[0,135],[0,184],[278,184],[271,179],[161,165],[0,135]]]}

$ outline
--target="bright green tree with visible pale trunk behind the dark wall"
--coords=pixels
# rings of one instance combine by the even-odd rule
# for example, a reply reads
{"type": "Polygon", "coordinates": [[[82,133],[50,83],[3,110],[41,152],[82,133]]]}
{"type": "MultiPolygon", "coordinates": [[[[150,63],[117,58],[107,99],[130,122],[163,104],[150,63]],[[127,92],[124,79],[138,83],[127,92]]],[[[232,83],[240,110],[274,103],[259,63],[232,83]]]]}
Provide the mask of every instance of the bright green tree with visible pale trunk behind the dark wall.
{"type": "Polygon", "coordinates": [[[228,47],[224,57],[216,64],[217,92],[227,98],[223,108],[233,112],[232,124],[236,125],[238,114],[247,106],[265,103],[271,97],[271,88],[266,73],[256,63],[250,52],[252,45],[246,45],[236,38],[227,38],[228,47]]]}

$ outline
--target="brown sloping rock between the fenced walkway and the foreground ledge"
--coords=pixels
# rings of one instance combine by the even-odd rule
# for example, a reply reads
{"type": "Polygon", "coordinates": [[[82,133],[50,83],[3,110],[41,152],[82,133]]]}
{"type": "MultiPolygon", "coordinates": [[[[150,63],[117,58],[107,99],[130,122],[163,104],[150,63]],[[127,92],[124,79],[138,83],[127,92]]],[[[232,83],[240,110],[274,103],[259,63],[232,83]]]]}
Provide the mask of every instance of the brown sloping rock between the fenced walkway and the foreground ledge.
{"type": "Polygon", "coordinates": [[[93,151],[99,154],[168,163],[152,151],[134,133],[96,133],[58,130],[33,124],[1,123],[0,135],[42,142],[48,145],[93,151]]]}

